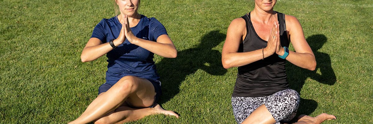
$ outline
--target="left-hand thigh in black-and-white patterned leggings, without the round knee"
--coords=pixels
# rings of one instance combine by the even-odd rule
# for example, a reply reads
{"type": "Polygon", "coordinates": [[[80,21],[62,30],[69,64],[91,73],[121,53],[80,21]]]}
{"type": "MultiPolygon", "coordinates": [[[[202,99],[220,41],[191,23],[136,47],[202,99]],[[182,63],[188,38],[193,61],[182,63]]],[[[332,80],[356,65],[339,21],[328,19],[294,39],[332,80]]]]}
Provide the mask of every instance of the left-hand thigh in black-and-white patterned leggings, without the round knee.
{"type": "Polygon", "coordinates": [[[241,124],[265,100],[265,97],[232,97],[233,115],[236,122],[241,124]]]}

